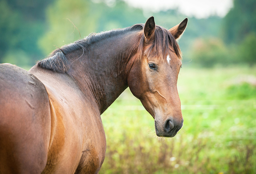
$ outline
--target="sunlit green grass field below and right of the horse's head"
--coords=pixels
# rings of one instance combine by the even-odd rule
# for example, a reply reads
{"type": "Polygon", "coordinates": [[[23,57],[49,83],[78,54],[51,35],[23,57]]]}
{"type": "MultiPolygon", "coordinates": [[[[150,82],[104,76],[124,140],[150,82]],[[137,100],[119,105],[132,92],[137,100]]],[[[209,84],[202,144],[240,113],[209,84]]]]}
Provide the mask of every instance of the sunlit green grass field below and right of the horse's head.
{"type": "Polygon", "coordinates": [[[256,67],[183,67],[184,124],[165,139],[125,90],[101,116],[107,152],[100,173],[256,173],[255,77],[256,67]]]}

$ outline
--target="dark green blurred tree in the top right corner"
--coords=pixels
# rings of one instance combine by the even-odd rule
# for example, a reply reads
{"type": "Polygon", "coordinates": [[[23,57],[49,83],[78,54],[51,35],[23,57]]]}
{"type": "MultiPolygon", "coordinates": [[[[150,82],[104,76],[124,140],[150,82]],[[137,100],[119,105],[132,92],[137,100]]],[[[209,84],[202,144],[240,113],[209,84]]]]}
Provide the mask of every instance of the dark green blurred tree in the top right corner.
{"type": "Polygon", "coordinates": [[[256,33],[256,1],[234,0],[233,8],[223,19],[226,43],[240,43],[250,32],[256,33]]]}

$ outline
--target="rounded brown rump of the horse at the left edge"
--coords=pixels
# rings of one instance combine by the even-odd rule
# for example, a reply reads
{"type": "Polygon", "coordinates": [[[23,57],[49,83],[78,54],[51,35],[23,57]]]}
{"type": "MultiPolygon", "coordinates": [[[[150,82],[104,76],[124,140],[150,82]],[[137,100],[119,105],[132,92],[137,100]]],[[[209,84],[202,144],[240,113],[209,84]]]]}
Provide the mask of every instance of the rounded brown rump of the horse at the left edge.
{"type": "Polygon", "coordinates": [[[50,125],[44,84],[22,68],[0,64],[0,173],[41,173],[50,125]]]}

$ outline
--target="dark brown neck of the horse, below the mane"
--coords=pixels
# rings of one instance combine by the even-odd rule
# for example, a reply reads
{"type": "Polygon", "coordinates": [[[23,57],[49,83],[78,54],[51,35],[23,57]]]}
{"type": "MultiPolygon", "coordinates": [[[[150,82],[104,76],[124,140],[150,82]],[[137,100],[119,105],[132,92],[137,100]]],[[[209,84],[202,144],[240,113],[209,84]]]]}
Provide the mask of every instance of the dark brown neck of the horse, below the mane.
{"type": "Polygon", "coordinates": [[[127,75],[136,57],[137,42],[135,33],[115,36],[90,45],[82,57],[82,53],[74,54],[68,73],[85,95],[90,91],[101,114],[128,87],[127,75]]]}

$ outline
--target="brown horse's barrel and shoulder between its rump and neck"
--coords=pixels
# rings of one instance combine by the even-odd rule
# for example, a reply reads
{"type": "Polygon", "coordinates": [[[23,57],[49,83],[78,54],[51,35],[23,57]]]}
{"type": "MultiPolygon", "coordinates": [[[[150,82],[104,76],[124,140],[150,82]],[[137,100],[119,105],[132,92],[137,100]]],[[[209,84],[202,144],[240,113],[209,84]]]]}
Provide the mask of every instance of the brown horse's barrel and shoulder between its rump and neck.
{"type": "Polygon", "coordinates": [[[67,74],[37,66],[30,73],[44,84],[51,110],[51,138],[43,173],[98,172],[105,157],[106,139],[92,94],[82,93],[67,74]]]}

